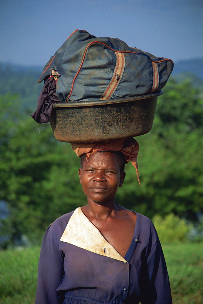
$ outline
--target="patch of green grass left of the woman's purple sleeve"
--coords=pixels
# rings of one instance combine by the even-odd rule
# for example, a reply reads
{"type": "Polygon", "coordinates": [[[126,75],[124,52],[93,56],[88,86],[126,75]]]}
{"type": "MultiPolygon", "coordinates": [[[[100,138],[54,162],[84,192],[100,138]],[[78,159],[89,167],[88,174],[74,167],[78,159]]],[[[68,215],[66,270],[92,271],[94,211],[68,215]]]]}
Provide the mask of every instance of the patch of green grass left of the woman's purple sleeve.
{"type": "Polygon", "coordinates": [[[0,252],[0,303],[35,302],[39,247],[0,252]]]}

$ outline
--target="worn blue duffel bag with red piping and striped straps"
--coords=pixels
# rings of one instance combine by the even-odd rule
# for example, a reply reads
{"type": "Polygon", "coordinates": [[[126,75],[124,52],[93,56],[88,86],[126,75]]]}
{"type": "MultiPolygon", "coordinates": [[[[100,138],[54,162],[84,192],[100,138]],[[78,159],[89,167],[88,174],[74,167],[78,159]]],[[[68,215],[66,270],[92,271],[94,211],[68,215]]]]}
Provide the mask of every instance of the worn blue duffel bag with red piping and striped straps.
{"type": "Polygon", "coordinates": [[[172,70],[171,59],[77,29],[50,58],[38,82],[54,77],[60,102],[88,102],[160,92],[172,70]]]}

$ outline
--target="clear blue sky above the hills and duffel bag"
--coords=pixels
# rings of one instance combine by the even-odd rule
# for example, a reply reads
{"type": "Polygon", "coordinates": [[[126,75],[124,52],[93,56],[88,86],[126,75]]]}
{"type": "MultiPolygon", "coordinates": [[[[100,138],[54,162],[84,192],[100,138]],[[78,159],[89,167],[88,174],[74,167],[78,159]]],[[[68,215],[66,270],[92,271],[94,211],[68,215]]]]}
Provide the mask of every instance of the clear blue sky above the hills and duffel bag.
{"type": "Polygon", "coordinates": [[[202,0],[0,0],[0,62],[44,66],[75,29],[157,57],[203,57],[202,0]]]}

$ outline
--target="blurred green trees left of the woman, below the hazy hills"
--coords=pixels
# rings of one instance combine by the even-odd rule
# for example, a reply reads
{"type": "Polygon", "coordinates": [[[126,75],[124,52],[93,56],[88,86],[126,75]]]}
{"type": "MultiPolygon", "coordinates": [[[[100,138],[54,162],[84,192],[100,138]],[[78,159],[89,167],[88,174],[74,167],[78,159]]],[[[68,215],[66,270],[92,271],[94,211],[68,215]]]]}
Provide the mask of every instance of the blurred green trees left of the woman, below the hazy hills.
{"type": "Polygon", "coordinates": [[[12,243],[22,234],[34,242],[53,220],[84,204],[80,160],[70,144],[57,142],[49,125],[40,125],[39,133],[30,115],[20,116],[16,99],[0,98],[0,200],[10,210],[2,230],[12,243]]]}

